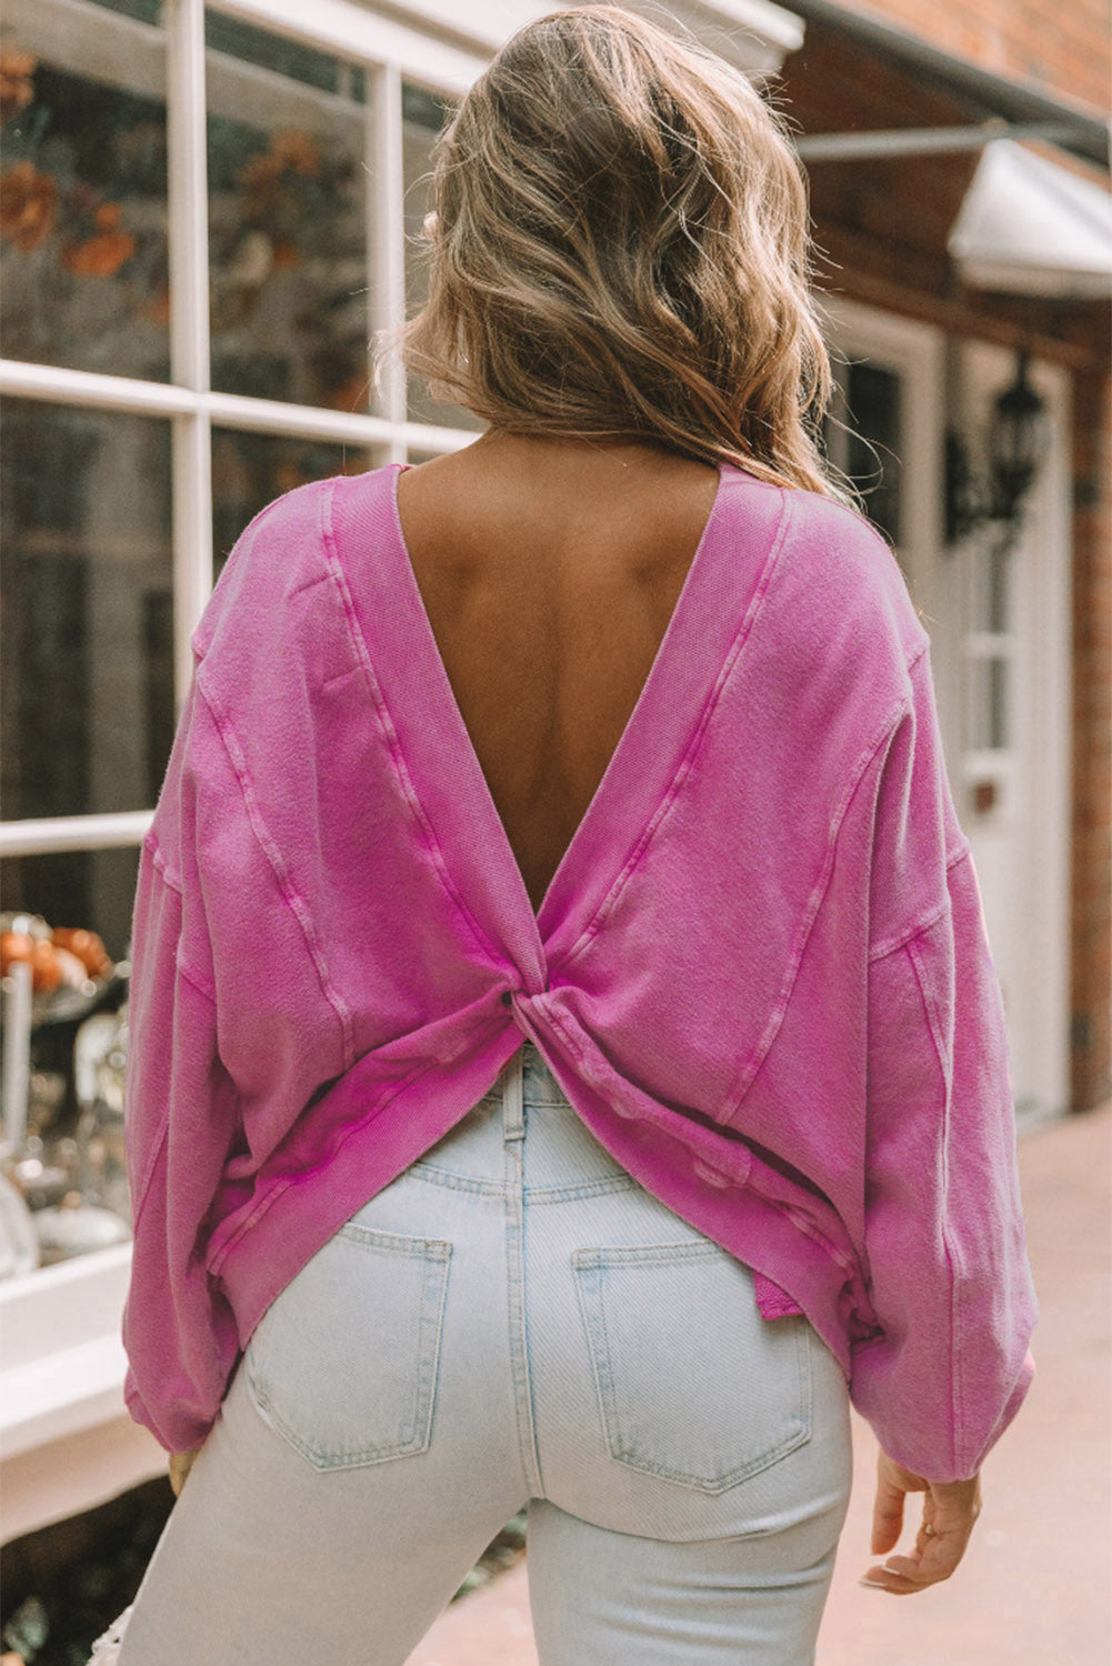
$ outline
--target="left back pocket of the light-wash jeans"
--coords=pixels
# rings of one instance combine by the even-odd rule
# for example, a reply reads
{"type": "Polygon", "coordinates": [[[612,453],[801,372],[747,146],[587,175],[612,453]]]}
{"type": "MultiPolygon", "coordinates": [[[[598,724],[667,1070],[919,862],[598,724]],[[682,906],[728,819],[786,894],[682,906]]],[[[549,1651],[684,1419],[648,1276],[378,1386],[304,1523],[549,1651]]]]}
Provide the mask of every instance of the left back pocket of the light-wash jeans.
{"type": "Polygon", "coordinates": [[[255,1326],[252,1399],[315,1469],[432,1441],[452,1245],[347,1221],[255,1326]]]}

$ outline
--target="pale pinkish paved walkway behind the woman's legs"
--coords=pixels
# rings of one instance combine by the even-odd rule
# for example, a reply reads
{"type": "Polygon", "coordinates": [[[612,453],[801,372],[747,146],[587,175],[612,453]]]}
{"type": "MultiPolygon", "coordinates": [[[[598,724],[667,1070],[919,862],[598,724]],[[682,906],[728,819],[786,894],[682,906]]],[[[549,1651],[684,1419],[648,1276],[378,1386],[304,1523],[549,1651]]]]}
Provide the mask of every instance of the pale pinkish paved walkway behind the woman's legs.
{"type": "MultiPolygon", "coordinates": [[[[1112,1661],[1110,1153],[1112,1105],[1020,1136],[1040,1308],[1037,1371],[1015,1423],[989,1453],[980,1519],[944,1584],[900,1598],[857,1584],[872,1561],[875,1439],[854,1414],[854,1494],[817,1666],[1112,1661]]],[[[922,1509],[914,1499],[909,1508],[904,1546],[922,1509]]],[[[452,1603],[408,1666],[537,1666],[525,1563],[452,1603]]]]}

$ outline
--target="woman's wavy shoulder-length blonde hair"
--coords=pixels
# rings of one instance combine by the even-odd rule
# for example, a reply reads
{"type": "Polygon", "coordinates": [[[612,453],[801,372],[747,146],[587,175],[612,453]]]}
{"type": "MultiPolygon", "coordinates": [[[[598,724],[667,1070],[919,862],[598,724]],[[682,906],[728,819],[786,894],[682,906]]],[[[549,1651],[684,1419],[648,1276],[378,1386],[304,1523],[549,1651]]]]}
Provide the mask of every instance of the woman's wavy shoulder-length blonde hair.
{"type": "Polygon", "coordinates": [[[398,333],[493,428],[655,440],[854,503],[782,115],[695,40],[609,5],[518,30],[433,148],[427,300],[398,333]]]}

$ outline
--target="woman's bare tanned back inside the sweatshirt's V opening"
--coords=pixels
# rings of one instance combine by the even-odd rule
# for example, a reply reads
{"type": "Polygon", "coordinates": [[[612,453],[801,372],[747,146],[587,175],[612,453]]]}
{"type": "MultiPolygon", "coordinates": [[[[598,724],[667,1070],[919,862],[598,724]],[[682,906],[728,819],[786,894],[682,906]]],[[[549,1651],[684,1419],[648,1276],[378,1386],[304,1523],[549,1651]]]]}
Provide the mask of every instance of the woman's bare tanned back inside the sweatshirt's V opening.
{"type": "MultiPolygon", "coordinates": [[[[460,528],[452,506],[442,526],[433,511],[433,541],[422,546],[418,503],[413,546],[395,468],[400,553],[422,600],[430,660],[452,690],[463,750],[483,775],[530,905],[538,895],[543,906],[664,651],[722,473],[709,506],[709,471],[682,473],[679,485],[669,476],[664,503],[657,483],[640,506],[632,558],[630,531],[610,530],[610,505],[597,516],[580,511],[577,565],[560,578],[567,546],[543,516],[530,525],[520,508],[508,535],[497,518],[460,528]],[[582,565],[579,550],[590,551],[582,565]]],[[[442,485],[440,498],[453,505],[453,488],[442,485]]]]}

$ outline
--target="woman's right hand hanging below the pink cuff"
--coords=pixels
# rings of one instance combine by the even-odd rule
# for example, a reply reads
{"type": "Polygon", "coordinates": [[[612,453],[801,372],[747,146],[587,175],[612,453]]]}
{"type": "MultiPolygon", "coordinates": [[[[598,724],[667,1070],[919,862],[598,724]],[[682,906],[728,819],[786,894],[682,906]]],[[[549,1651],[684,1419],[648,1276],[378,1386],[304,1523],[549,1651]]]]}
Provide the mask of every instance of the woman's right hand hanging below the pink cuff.
{"type": "Polygon", "coordinates": [[[877,1503],[872,1513],[872,1553],[884,1556],[899,1543],[907,1493],[925,1493],[924,1519],[907,1556],[889,1556],[882,1568],[870,1568],[862,1584],[894,1596],[925,1591],[949,1579],[969,1544],[980,1514],[980,1474],[969,1481],[925,1481],[902,1469],[882,1451],[877,1458],[877,1503]]]}

